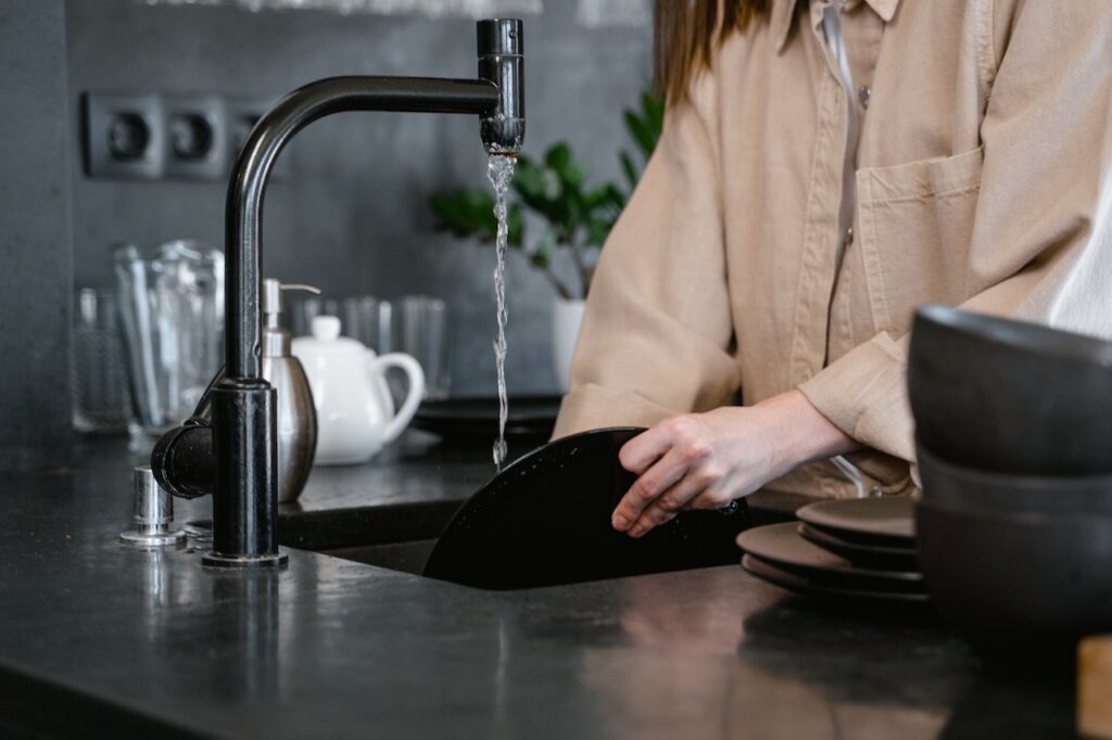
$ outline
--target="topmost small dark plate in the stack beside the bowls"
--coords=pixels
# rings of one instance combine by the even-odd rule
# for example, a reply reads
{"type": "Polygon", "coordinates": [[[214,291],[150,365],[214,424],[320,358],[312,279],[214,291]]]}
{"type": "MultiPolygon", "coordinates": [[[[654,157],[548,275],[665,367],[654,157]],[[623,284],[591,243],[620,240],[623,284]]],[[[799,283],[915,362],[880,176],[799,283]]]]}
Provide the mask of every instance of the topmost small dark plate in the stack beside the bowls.
{"type": "Polygon", "coordinates": [[[808,503],[795,512],[802,521],[862,544],[913,549],[914,501],[907,496],[838,499],[808,503]]]}

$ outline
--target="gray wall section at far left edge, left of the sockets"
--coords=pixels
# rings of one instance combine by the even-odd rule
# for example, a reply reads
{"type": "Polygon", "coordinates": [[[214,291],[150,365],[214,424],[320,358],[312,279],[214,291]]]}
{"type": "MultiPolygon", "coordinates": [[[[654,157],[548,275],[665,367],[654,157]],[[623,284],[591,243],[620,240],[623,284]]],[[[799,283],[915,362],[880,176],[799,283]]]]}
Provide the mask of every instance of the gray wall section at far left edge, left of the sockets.
{"type": "Polygon", "coordinates": [[[0,0],[0,470],[69,456],[62,0],[0,0]]]}

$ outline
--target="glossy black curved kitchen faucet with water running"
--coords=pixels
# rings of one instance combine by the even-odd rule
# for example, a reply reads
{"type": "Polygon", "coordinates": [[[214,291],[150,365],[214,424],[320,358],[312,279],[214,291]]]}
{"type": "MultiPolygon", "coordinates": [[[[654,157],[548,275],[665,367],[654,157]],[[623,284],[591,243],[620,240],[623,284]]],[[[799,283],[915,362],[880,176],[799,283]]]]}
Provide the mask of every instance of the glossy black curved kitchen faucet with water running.
{"type": "Polygon", "coordinates": [[[275,391],[261,376],[261,211],[275,159],[312,121],[349,110],[474,113],[492,154],[516,154],[525,137],[522,21],[479,21],[478,79],[335,77],[280,100],[251,130],[228,186],[226,363],[193,417],[151,454],[176,496],[212,493],[212,551],[205,564],[279,566],[275,391]]]}

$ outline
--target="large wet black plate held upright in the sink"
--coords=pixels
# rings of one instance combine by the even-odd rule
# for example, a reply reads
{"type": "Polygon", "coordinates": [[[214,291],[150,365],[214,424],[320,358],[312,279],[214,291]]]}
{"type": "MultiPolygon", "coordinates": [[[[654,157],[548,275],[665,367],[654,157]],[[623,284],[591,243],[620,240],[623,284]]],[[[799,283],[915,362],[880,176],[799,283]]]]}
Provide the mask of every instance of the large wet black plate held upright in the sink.
{"type": "Polygon", "coordinates": [[[642,429],[600,429],[550,442],[515,461],[468,499],[429,556],[425,574],[487,589],[519,589],[737,562],[748,523],[686,511],[633,539],[610,527],[634,476],[618,450],[642,429]]]}

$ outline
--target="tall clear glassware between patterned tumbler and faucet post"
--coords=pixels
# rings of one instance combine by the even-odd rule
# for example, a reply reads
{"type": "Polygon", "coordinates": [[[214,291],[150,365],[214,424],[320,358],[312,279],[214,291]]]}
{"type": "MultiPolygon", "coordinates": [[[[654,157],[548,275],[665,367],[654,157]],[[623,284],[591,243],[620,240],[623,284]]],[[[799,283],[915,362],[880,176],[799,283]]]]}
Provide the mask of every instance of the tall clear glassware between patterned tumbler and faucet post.
{"type": "Polygon", "coordinates": [[[130,380],[133,441],[192,412],[224,358],[224,253],[171,241],[155,259],[116,251],[116,294],[130,380]]]}

